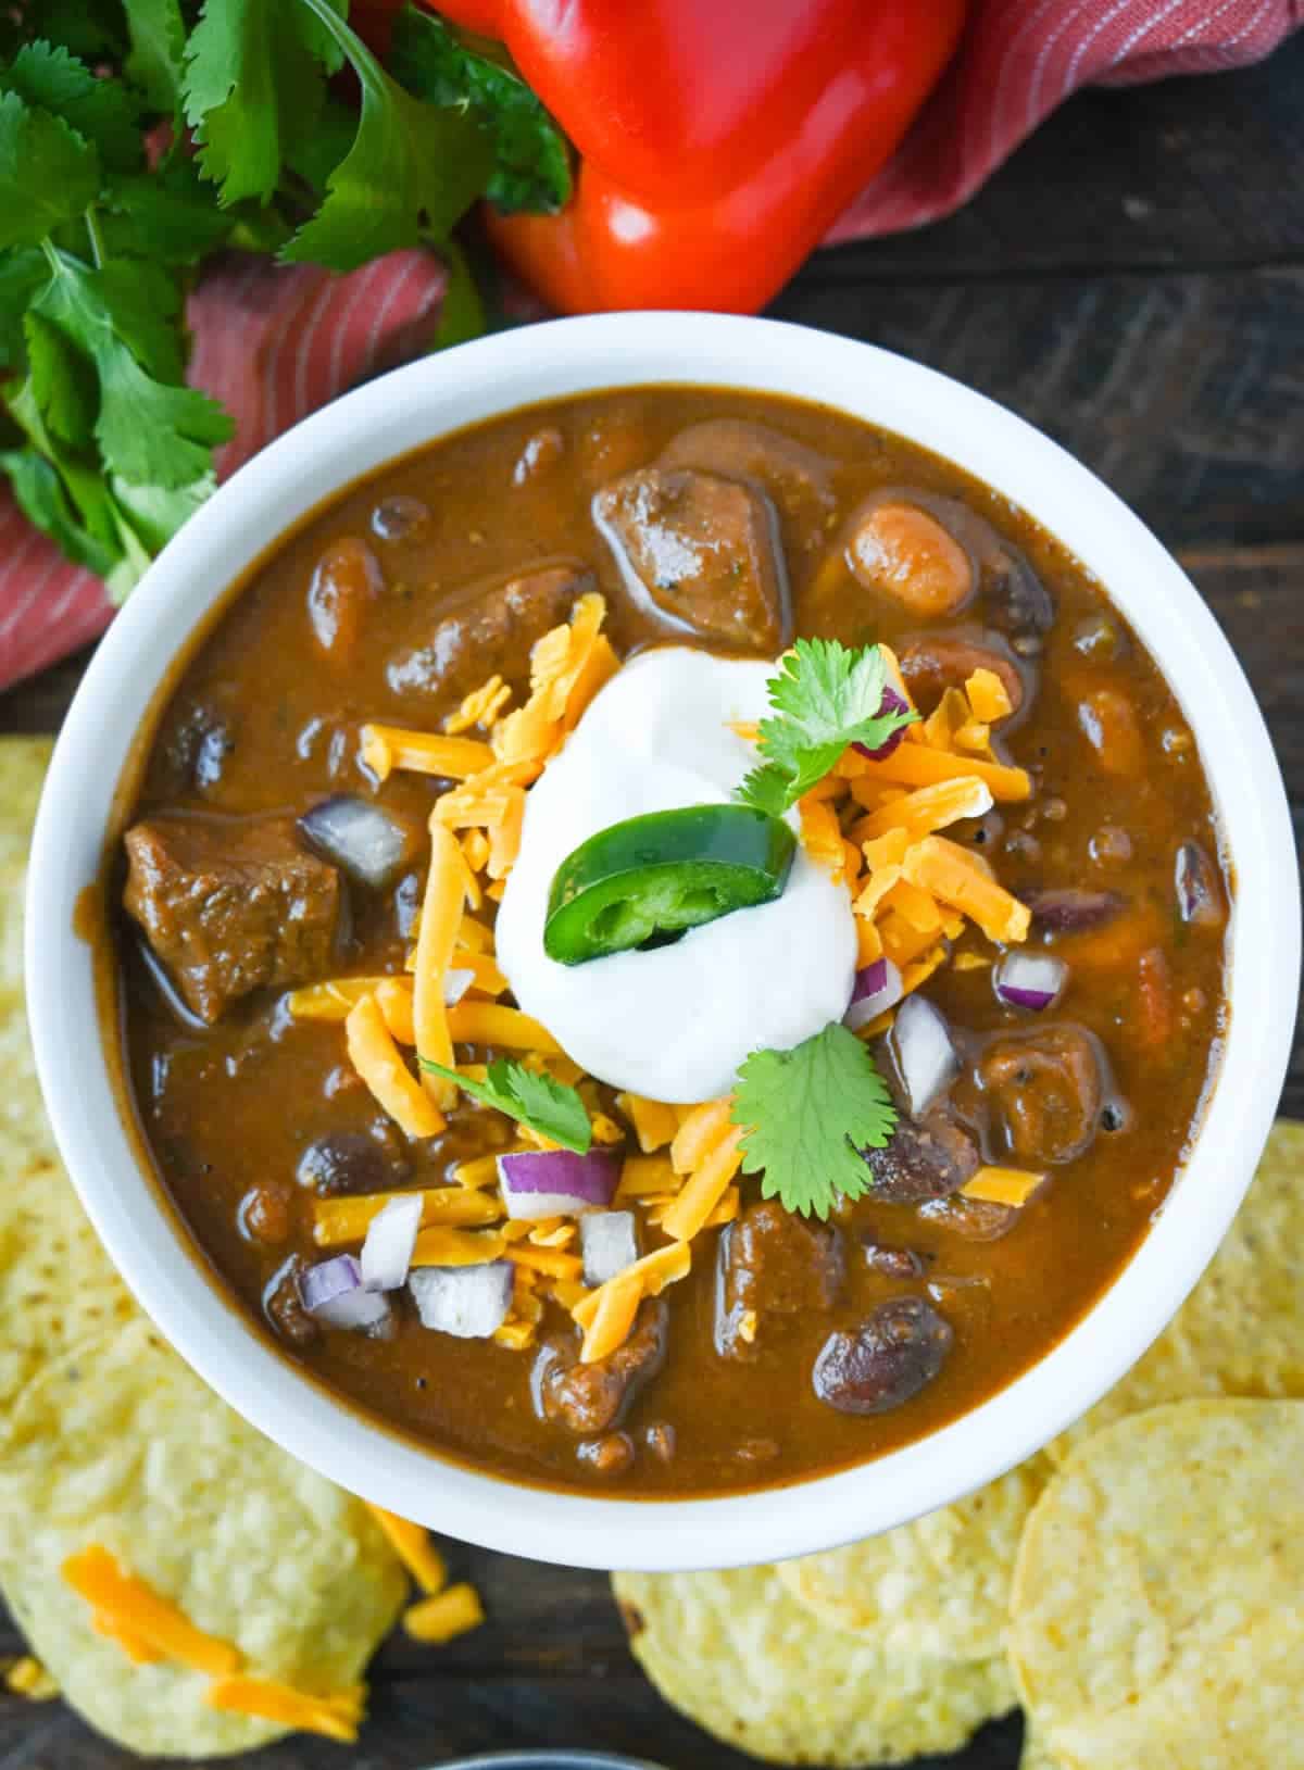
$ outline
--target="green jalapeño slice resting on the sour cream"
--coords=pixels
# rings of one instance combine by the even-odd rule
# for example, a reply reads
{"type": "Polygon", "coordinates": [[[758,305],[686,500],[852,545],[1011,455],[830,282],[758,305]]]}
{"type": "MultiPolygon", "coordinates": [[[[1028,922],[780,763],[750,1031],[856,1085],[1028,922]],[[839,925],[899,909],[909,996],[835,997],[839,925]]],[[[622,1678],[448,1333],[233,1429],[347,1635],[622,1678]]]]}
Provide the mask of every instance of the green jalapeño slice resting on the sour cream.
{"type": "Polygon", "coordinates": [[[771,903],[794,846],[786,823],[750,805],[683,805],[612,823],[557,867],[543,950],[584,965],[771,903]]]}

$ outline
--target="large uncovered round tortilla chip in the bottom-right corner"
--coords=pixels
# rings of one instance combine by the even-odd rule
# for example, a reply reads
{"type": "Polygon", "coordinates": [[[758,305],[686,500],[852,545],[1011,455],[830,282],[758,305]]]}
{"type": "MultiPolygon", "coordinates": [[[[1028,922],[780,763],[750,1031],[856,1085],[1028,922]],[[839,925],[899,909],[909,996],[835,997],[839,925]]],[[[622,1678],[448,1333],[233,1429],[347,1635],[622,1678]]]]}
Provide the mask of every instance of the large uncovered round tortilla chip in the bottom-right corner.
{"type": "Polygon", "coordinates": [[[1177,1402],[1028,1519],[1010,1653],[1065,1770],[1304,1765],[1304,1402],[1177,1402]]]}

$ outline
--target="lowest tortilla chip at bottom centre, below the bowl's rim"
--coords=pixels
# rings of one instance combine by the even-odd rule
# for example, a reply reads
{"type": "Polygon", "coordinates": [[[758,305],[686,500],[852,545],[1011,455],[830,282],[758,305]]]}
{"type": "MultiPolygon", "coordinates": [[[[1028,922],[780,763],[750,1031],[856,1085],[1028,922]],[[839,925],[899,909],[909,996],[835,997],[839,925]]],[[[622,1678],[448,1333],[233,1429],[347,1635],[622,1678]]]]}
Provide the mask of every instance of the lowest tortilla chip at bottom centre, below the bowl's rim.
{"type": "Polygon", "coordinates": [[[890,1765],[948,1752],[1014,1706],[1003,1658],[885,1653],[825,1628],[771,1566],[616,1574],[633,1655],[715,1738],[784,1765],[890,1765]]]}

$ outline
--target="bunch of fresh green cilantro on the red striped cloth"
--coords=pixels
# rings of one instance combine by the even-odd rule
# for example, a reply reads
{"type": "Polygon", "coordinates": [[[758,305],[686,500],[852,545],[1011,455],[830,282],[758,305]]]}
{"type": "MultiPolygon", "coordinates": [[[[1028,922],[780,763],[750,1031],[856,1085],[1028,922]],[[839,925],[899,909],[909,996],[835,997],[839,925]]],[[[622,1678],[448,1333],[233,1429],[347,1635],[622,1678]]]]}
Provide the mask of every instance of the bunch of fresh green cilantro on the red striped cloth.
{"type": "Polygon", "coordinates": [[[556,209],[570,154],[513,69],[347,0],[19,0],[0,9],[0,471],[115,600],[209,496],[228,414],[186,386],[184,297],[225,246],[352,271],[430,244],[433,343],[485,327],[453,228],[556,209]],[[349,85],[357,94],[350,103],[349,85]]]}

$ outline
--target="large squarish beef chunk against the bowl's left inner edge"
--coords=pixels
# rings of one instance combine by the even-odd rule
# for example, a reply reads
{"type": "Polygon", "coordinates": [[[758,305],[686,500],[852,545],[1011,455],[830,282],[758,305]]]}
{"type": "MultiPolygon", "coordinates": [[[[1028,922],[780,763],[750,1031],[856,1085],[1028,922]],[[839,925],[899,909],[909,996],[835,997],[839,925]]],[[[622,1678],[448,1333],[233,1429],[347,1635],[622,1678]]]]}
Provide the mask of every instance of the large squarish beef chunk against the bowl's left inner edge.
{"type": "Polygon", "coordinates": [[[288,818],[154,818],[127,830],[126,850],[122,901],[200,1020],[327,970],[340,874],[299,846],[288,818]]]}

